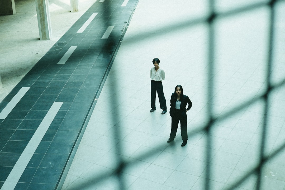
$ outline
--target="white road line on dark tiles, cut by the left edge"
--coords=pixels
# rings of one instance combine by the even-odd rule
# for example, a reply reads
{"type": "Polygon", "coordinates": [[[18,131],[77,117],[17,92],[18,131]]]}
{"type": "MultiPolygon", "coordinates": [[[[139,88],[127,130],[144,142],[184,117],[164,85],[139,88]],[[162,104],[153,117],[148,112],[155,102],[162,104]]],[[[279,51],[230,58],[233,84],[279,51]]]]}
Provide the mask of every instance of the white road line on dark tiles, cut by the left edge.
{"type": "Polygon", "coordinates": [[[19,92],[11,99],[11,101],[6,105],[6,107],[0,113],[0,119],[5,119],[17,103],[23,98],[30,87],[22,87],[19,92]]]}

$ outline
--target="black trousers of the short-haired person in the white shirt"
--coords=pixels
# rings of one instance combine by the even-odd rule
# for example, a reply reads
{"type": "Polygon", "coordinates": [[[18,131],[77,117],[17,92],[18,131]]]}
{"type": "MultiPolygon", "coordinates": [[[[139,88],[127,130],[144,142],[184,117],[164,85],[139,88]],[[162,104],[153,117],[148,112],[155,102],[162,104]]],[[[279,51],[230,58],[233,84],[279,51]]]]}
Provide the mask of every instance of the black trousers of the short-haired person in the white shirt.
{"type": "Polygon", "coordinates": [[[151,92],[151,108],[155,108],[156,91],[159,99],[160,109],[166,109],[166,100],[163,93],[163,86],[161,81],[151,80],[150,92],[151,92]]]}

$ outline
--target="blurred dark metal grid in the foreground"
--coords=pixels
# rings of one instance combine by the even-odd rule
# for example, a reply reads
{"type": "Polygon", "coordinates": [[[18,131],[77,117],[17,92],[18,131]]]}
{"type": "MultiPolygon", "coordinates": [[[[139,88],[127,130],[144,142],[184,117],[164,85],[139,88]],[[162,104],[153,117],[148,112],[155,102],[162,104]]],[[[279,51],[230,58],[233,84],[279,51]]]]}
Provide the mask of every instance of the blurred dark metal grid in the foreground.
{"type": "MultiPolygon", "coordinates": [[[[266,2],[260,2],[260,3],[255,3],[255,4],[252,4],[252,5],[247,5],[247,6],[244,6],[244,7],[240,7],[240,8],[236,8],[236,9],[232,9],[232,10],[229,10],[229,11],[225,11],[225,12],[217,12],[215,11],[215,1],[214,0],[209,0],[209,14],[208,16],[205,16],[205,17],[201,17],[201,18],[198,18],[198,19],[193,19],[193,20],[189,20],[189,21],[186,21],[186,22],[183,22],[183,23],[175,23],[171,26],[169,26],[169,30],[172,30],[173,28],[176,28],[176,29],[179,29],[179,28],[183,28],[183,27],[188,27],[188,26],[194,26],[194,25],[197,25],[197,24],[201,24],[201,23],[207,23],[208,25],[208,38],[209,38],[209,45],[208,45],[208,65],[210,65],[209,70],[208,70],[208,73],[209,73],[209,83],[208,85],[209,86],[213,86],[214,85],[214,81],[210,80],[211,79],[211,75],[213,75],[213,71],[211,70],[211,68],[215,68],[215,59],[214,59],[214,55],[215,55],[215,29],[214,29],[214,25],[215,25],[215,21],[217,21],[217,19],[222,19],[222,18],[225,18],[225,17],[229,17],[229,16],[232,16],[232,15],[236,15],[238,13],[242,13],[242,12],[245,12],[245,11],[252,11],[252,10],[255,10],[255,9],[260,9],[262,7],[268,7],[270,9],[270,27],[268,28],[268,31],[269,31],[269,43],[268,43],[268,60],[267,60],[267,79],[266,79],[266,85],[267,85],[267,89],[265,91],[264,94],[262,94],[262,96],[260,97],[253,97],[253,98],[250,98],[248,101],[245,101],[244,103],[240,104],[240,105],[237,105],[237,107],[233,108],[231,111],[229,111],[226,115],[224,116],[231,116],[233,114],[236,113],[235,110],[239,110],[239,109],[242,109],[244,107],[247,107],[249,104],[251,103],[255,103],[259,100],[262,100],[264,101],[264,124],[263,124],[263,127],[262,127],[262,140],[260,142],[260,155],[259,155],[259,158],[260,158],[260,162],[257,166],[252,166],[252,169],[250,171],[247,171],[247,175],[241,177],[240,179],[237,179],[236,180],[236,183],[235,185],[233,185],[232,188],[229,188],[227,190],[231,190],[231,189],[235,189],[235,187],[238,187],[239,184],[243,183],[243,181],[245,181],[250,175],[252,175],[253,173],[257,174],[258,175],[258,179],[257,179],[257,185],[256,185],[256,190],[259,190],[261,187],[261,173],[262,173],[262,169],[263,169],[263,166],[264,166],[264,163],[269,161],[270,159],[274,158],[274,156],[276,156],[278,154],[278,152],[284,150],[285,148],[285,143],[282,144],[275,152],[273,152],[272,154],[270,154],[270,156],[266,156],[264,154],[264,144],[265,144],[265,141],[266,141],[266,133],[267,133],[267,130],[266,130],[266,125],[268,124],[268,115],[267,115],[267,111],[268,111],[268,106],[269,106],[269,99],[268,99],[268,95],[270,94],[270,92],[272,92],[273,90],[276,90],[282,86],[285,85],[285,78],[280,82],[280,83],[277,83],[275,85],[273,85],[271,83],[271,71],[272,71],[272,56],[273,56],[273,52],[274,52],[274,48],[273,48],[273,40],[274,40],[274,24],[275,24],[275,21],[276,21],[276,15],[275,15],[275,8],[276,8],[276,4],[278,2],[281,2],[281,1],[284,1],[284,0],[271,0],[271,1],[266,1],[266,2]]],[[[109,6],[104,3],[103,4],[103,9],[105,10],[104,13],[106,14],[105,18],[108,18],[108,9],[109,9],[109,6]]],[[[129,24],[129,23],[128,23],[129,24]]],[[[127,29],[127,27],[125,28],[125,30],[127,29]]],[[[157,29],[157,28],[156,28],[157,29]]],[[[124,31],[125,32],[125,31],[124,31]]],[[[124,35],[124,34],[123,34],[124,35]]],[[[123,35],[122,35],[122,38],[123,38],[123,35]]],[[[139,36],[139,37],[142,37],[142,38],[149,38],[150,36],[139,36]]],[[[154,38],[155,36],[151,36],[151,38],[154,38]]],[[[115,42],[116,39],[109,39],[109,43],[110,44],[113,44],[113,42],[115,42]]],[[[119,47],[119,46],[118,46],[119,47]]],[[[118,49],[117,47],[117,49],[118,49]]],[[[113,56],[113,59],[111,60],[111,64],[110,64],[110,67],[109,67],[109,70],[111,68],[111,65],[112,65],[112,62],[114,61],[114,58],[115,56],[113,56]]],[[[109,72],[109,70],[107,71],[107,74],[109,72]]],[[[107,75],[106,75],[107,76],[107,75]]],[[[116,87],[113,88],[114,91],[116,91],[115,89],[116,87]]],[[[212,89],[211,88],[208,88],[208,94],[211,95],[213,94],[212,92],[212,89]]],[[[213,104],[211,104],[211,99],[209,99],[209,103],[207,104],[208,107],[208,113],[212,113],[212,110],[213,110],[213,104]]],[[[112,102],[117,102],[116,98],[114,98],[113,96],[113,99],[112,99],[112,102]]],[[[207,145],[208,147],[211,147],[211,144],[212,144],[212,138],[211,138],[211,135],[210,135],[210,131],[214,129],[214,126],[213,124],[217,121],[220,121],[220,120],[223,120],[222,117],[214,117],[212,114],[209,114],[208,115],[208,118],[209,118],[209,121],[208,121],[208,124],[205,125],[205,126],[200,126],[200,130],[196,130],[194,132],[205,132],[209,138],[207,138],[207,145]]],[[[113,118],[113,120],[115,121],[115,118],[113,118]]],[[[114,136],[118,136],[121,134],[121,131],[119,130],[119,128],[114,128],[114,131],[113,131],[113,134],[114,136]]],[[[194,133],[190,133],[188,134],[189,137],[191,137],[192,135],[194,135],[194,133]]],[[[118,179],[118,185],[119,185],[119,188],[121,190],[125,190],[125,182],[124,182],[124,179],[121,175],[121,172],[124,170],[124,168],[128,165],[128,166],[132,166],[134,164],[136,164],[136,161],[134,159],[133,162],[123,162],[123,159],[121,158],[120,156],[120,152],[123,150],[124,147],[121,147],[121,146],[117,146],[117,158],[114,158],[117,160],[117,164],[118,164],[118,167],[116,169],[116,172],[115,173],[101,173],[101,175],[99,177],[94,177],[94,179],[96,181],[101,181],[101,180],[104,180],[108,177],[110,177],[110,175],[116,175],[117,179],[118,179]]],[[[160,147],[158,146],[157,149],[160,149],[160,147]]],[[[210,162],[209,158],[211,158],[211,149],[208,148],[207,149],[207,153],[206,153],[206,157],[207,157],[207,163],[210,162]]],[[[155,154],[155,150],[152,151],[152,152],[145,152],[144,154],[140,155],[139,157],[148,157],[152,154],[155,154]]],[[[211,187],[211,184],[209,183],[210,179],[209,179],[209,176],[210,176],[210,173],[211,173],[211,167],[206,167],[206,179],[205,179],[205,186],[204,186],[204,190],[211,190],[213,189],[213,187],[211,187]]],[[[77,189],[84,189],[84,188],[88,188],[90,186],[90,184],[80,184],[80,185],[77,185],[75,188],[77,189]]]]}

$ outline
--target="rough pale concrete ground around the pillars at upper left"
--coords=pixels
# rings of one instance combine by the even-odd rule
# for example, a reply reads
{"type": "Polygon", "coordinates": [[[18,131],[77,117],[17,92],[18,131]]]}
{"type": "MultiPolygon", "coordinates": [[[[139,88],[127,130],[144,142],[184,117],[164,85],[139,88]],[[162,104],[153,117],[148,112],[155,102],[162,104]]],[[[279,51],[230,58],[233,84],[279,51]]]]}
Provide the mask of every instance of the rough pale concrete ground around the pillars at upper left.
{"type": "Polygon", "coordinates": [[[15,0],[16,14],[0,17],[0,101],[95,1],[81,0],[71,13],[69,0],[50,0],[52,38],[39,40],[35,1],[15,0]]]}

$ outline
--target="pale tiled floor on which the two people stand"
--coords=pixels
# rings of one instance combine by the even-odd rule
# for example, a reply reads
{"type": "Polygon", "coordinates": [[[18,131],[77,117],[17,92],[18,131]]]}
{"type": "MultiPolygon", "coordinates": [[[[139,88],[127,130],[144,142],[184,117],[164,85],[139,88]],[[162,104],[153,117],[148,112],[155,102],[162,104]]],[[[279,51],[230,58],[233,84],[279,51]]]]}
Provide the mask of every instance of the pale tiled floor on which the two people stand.
{"type": "MultiPolygon", "coordinates": [[[[254,169],[260,162],[265,121],[264,101],[256,99],[266,89],[268,10],[218,19],[215,65],[211,66],[207,62],[207,23],[187,25],[188,18],[207,13],[206,5],[201,1],[138,3],[62,189],[201,190],[207,183],[208,189],[253,190],[258,180],[260,189],[285,189],[285,39],[280,33],[284,2],[276,10],[278,40],[271,75],[274,84],[283,81],[283,86],[270,93],[264,153],[269,156],[279,146],[283,149],[264,163],[260,179],[254,169]],[[180,146],[180,133],[174,142],[166,142],[171,128],[168,113],[149,112],[149,70],[155,57],[166,71],[167,102],[177,84],[193,102],[187,113],[189,140],[185,147],[180,146]],[[206,134],[203,127],[210,113],[217,120],[206,134]],[[119,161],[126,168],[117,178],[119,161]]],[[[218,8],[224,11],[239,6],[223,1],[218,8]]]]}

